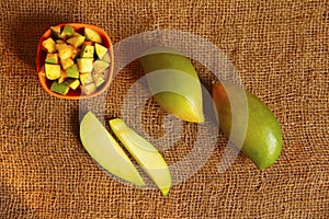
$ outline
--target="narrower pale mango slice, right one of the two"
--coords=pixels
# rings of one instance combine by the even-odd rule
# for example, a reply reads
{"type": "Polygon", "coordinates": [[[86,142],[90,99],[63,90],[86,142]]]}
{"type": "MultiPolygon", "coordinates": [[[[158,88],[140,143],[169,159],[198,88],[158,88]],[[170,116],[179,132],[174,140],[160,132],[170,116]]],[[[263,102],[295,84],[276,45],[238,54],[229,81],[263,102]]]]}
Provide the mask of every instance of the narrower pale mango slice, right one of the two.
{"type": "Polygon", "coordinates": [[[123,119],[111,119],[110,126],[137,163],[159,187],[163,196],[167,196],[171,187],[171,175],[168,164],[159,151],[131,129],[123,119]]]}

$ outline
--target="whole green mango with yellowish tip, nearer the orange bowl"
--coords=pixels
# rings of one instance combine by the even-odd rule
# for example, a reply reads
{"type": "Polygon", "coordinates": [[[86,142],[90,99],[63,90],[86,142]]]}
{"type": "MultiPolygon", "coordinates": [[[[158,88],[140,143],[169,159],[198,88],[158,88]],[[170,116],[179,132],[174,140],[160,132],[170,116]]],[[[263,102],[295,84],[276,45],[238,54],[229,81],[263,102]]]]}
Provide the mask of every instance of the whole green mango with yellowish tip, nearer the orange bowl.
{"type": "Polygon", "coordinates": [[[203,123],[202,88],[191,60],[175,49],[155,47],[139,58],[157,103],[182,120],[203,123]]]}

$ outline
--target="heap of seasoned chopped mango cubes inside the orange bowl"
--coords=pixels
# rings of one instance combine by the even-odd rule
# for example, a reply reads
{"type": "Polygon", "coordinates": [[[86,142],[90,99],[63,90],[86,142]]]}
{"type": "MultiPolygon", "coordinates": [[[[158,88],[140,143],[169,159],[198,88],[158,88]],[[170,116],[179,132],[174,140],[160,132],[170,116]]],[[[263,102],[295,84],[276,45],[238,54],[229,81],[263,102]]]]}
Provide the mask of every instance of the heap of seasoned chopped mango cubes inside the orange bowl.
{"type": "Polygon", "coordinates": [[[109,49],[101,45],[101,35],[88,27],[83,32],[75,30],[69,24],[50,26],[50,31],[52,36],[42,43],[42,49],[45,53],[43,73],[54,83],[53,90],[67,94],[68,85],[89,95],[100,89],[109,77],[111,58],[109,49]],[[63,82],[66,83],[58,87],[63,82]]]}

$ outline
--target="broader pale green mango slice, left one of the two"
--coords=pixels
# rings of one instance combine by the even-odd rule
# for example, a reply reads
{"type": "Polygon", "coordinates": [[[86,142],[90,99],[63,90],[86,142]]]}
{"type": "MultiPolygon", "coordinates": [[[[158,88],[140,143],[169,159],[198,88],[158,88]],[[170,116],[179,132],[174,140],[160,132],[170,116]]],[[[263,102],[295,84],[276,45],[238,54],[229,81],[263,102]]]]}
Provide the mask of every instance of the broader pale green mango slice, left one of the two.
{"type": "Polygon", "coordinates": [[[91,112],[80,123],[80,138],[87,152],[104,170],[137,186],[145,185],[129,158],[91,112]]]}

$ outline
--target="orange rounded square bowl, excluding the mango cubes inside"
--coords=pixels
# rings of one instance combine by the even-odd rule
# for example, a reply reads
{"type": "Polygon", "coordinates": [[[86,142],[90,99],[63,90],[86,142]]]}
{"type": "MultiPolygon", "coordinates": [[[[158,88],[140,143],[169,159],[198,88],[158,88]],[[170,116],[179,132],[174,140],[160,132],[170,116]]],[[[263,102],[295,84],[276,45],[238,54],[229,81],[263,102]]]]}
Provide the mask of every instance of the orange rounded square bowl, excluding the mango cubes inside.
{"type": "Polygon", "coordinates": [[[94,31],[97,31],[101,37],[102,37],[102,45],[105,46],[106,48],[109,48],[109,54],[110,54],[110,69],[109,69],[109,76],[106,78],[106,81],[104,82],[104,84],[100,88],[98,88],[98,90],[89,95],[86,95],[83,93],[81,93],[80,88],[78,88],[77,90],[71,90],[66,94],[59,94],[56,93],[54,91],[50,90],[52,83],[53,81],[48,80],[45,77],[45,73],[43,72],[43,67],[45,65],[45,58],[46,58],[46,51],[44,51],[42,49],[42,44],[45,39],[47,39],[48,37],[52,36],[52,30],[48,28],[47,31],[44,32],[44,34],[42,35],[42,37],[39,38],[38,45],[37,45],[37,51],[36,51],[36,69],[37,69],[37,76],[39,79],[39,82],[43,87],[43,89],[50,95],[59,97],[59,99],[67,99],[67,100],[80,100],[80,99],[90,99],[90,97],[94,97],[97,95],[100,95],[101,93],[103,93],[107,87],[111,83],[112,77],[113,77],[113,64],[114,64],[114,57],[113,57],[113,47],[112,47],[112,42],[111,38],[109,37],[109,35],[100,27],[95,26],[95,25],[91,25],[91,24],[82,24],[82,23],[66,23],[66,24],[58,24],[56,26],[60,26],[64,27],[65,25],[71,25],[75,27],[75,30],[78,33],[83,33],[83,28],[84,27],[89,27],[92,28],[94,31]]]}

